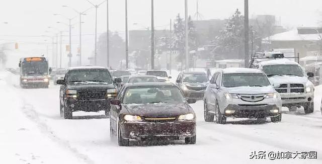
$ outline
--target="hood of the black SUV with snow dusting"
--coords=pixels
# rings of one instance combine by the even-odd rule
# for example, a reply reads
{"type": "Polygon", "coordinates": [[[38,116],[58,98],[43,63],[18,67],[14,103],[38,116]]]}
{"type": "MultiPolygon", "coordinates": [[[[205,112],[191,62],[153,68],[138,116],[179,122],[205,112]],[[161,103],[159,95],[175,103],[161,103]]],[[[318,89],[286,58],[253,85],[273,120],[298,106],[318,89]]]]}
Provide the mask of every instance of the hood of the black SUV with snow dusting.
{"type": "Polygon", "coordinates": [[[78,85],[67,85],[68,90],[107,90],[115,89],[113,84],[102,84],[102,83],[89,83],[89,84],[78,84],[78,85]]]}

